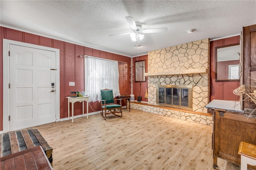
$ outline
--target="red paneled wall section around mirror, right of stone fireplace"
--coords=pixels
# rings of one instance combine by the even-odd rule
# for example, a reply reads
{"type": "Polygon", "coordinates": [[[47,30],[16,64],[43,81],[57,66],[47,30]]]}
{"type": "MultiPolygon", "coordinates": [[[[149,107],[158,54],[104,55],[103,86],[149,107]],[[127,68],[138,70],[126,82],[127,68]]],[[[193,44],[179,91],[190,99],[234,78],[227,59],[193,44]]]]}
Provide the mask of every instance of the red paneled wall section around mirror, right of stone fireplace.
{"type": "Polygon", "coordinates": [[[215,47],[235,43],[240,43],[240,36],[210,42],[210,101],[214,99],[239,100],[239,98],[233,94],[233,90],[240,86],[240,81],[215,81],[215,47]]]}

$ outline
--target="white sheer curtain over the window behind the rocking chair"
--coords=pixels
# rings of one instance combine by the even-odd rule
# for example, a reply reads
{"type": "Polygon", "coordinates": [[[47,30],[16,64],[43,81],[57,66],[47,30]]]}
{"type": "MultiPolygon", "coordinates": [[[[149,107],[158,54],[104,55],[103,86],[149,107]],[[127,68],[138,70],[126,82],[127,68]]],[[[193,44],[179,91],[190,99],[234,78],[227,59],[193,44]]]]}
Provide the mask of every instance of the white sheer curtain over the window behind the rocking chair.
{"type": "Polygon", "coordinates": [[[113,95],[120,95],[118,62],[114,60],[86,57],[85,65],[85,92],[89,102],[100,101],[101,89],[112,89],[113,95]]]}

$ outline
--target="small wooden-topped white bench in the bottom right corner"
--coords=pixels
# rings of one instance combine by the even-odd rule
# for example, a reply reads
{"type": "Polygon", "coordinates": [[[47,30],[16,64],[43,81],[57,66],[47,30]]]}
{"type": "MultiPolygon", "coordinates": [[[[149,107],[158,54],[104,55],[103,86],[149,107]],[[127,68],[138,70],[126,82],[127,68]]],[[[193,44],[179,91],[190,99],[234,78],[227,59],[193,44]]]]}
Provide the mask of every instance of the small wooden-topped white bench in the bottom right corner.
{"type": "Polygon", "coordinates": [[[247,170],[247,164],[256,166],[256,145],[241,141],[238,154],[241,155],[241,170],[247,170]]]}

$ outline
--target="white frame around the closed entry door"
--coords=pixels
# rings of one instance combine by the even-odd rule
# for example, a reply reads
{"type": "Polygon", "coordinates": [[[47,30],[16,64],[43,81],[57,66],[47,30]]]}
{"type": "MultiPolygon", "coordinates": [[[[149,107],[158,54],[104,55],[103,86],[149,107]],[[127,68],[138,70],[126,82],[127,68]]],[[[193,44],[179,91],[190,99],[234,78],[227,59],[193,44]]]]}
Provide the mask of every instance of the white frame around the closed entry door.
{"type": "Polygon", "coordinates": [[[60,121],[60,49],[44,47],[41,45],[34,45],[30,43],[17,42],[13,40],[3,39],[3,132],[10,131],[10,44],[20,45],[24,47],[37,48],[42,50],[54,51],[56,54],[56,110],[55,121],[60,121]]]}

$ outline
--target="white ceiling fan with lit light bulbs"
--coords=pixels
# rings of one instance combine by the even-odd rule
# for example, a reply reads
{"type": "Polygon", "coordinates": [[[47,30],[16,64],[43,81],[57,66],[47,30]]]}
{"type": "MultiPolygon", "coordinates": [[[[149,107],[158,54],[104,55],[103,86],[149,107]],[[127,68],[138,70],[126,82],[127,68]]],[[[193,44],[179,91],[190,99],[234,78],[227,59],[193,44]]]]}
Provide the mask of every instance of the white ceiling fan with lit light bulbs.
{"type": "Polygon", "coordinates": [[[130,25],[130,27],[132,29],[132,32],[126,32],[126,33],[121,33],[121,34],[112,34],[112,35],[109,35],[109,36],[119,36],[119,35],[130,34],[130,37],[132,38],[132,41],[136,42],[137,38],[142,40],[143,37],[144,37],[144,34],[157,33],[157,32],[166,32],[167,31],[167,28],[153,28],[153,29],[142,30],[142,23],[141,22],[135,22],[134,19],[131,16],[126,16],[125,18],[126,18],[128,24],[130,25]]]}

